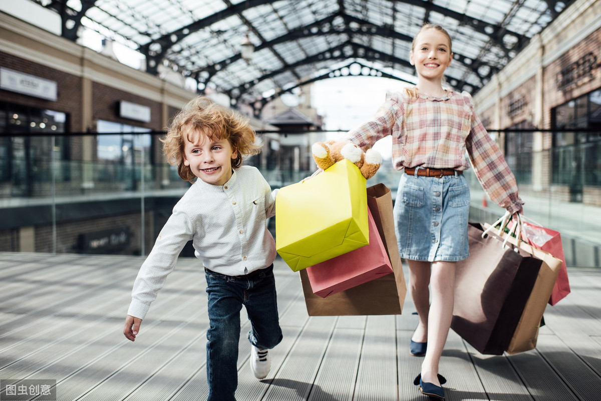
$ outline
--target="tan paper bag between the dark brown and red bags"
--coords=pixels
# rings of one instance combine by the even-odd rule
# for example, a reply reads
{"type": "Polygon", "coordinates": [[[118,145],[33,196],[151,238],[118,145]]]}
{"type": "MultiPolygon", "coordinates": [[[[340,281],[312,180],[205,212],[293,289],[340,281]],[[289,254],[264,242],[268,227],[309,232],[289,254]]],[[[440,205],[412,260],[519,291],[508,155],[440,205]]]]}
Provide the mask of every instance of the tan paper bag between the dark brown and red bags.
{"type": "MultiPolygon", "coordinates": [[[[488,226],[484,225],[484,228],[488,228],[488,226]]],[[[493,231],[493,234],[497,234],[497,231],[493,231]]],[[[499,235],[502,240],[507,238],[507,234],[505,233],[499,235]]],[[[536,347],[538,328],[543,319],[543,313],[545,312],[549,297],[554,291],[563,261],[555,258],[551,253],[537,249],[523,241],[517,241],[515,237],[507,238],[507,242],[514,246],[519,246],[523,252],[529,253],[542,261],[532,292],[528,297],[528,301],[526,301],[522,316],[517,323],[516,331],[514,331],[511,342],[505,350],[508,354],[517,354],[518,352],[528,351],[536,347]]]]}

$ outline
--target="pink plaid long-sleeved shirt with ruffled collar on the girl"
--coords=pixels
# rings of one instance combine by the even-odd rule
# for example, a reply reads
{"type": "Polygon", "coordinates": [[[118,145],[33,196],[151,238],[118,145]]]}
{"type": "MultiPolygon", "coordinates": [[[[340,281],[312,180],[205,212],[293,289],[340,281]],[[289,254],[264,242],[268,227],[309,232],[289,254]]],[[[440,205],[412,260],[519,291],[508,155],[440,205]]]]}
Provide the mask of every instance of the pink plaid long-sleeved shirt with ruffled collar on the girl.
{"type": "Polygon", "coordinates": [[[516,179],[499,146],[474,113],[468,92],[433,98],[404,92],[386,94],[386,101],[367,122],[349,131],[347,139],[371,148],[392,136],[392,164],[397,170],[416,166],[431,169],[469,169],[466,151],[478,181],[490,199],[511,213],[523,205],[516,179]]]}

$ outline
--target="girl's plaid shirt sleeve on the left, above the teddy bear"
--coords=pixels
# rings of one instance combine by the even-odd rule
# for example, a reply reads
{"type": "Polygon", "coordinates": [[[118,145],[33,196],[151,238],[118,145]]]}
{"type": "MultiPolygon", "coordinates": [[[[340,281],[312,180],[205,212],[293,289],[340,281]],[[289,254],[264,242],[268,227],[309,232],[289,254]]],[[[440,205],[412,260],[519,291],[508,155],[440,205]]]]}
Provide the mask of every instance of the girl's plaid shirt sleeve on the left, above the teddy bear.
{"type": "Polygon", "coordinates": [[[386,92],[386,101],[368,121],[347,133],[344,139],[355,142],[361,149],[367,150],[392,133],[392,127],[403,119],[402,103],[391,92],[386,92]]]}

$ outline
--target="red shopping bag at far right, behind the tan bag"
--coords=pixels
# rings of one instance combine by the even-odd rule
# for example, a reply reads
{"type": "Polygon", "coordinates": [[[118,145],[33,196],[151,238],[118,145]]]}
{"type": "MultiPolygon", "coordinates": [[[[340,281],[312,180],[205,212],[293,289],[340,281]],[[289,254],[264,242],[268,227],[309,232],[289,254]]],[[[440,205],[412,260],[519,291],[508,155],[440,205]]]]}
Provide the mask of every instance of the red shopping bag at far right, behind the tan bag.
{"type": "Polygon", "coordinates": [[[570,282],[567,279],[566,258],[563,253],[563,245],[561,244],[561,235],[559,232],[536,226],[531,223],[522,223],[522,237],[531,246],[551,253],[557,259],[561,259],[560,273],[557,276],[557,281],[553,287],[549,304],[555,305],[558,301],[570,294],[570,282]]]}

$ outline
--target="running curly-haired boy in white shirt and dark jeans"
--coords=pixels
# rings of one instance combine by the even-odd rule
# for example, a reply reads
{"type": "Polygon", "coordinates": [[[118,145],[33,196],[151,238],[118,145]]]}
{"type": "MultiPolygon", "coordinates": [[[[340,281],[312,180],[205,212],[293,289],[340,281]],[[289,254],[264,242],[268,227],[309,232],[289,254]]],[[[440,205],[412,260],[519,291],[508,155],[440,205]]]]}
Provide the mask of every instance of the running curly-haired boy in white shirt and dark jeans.
{"type": "Polygon", "coordinates": [[[251,321],[251,369],[269,373],[268,349],[282,339],[276,305],[275,242],[266,219],[275,215],[271,188],[260,172],[242,166],[260,151],[248,119],[206,97],[191,100],[162,140],[178,174],[194,184],[159,233],[133,284],[123,334],[134,341],[140,324],[191,240],[207,280],[209,401],[235,400],[240,310],[251,321]]]}

